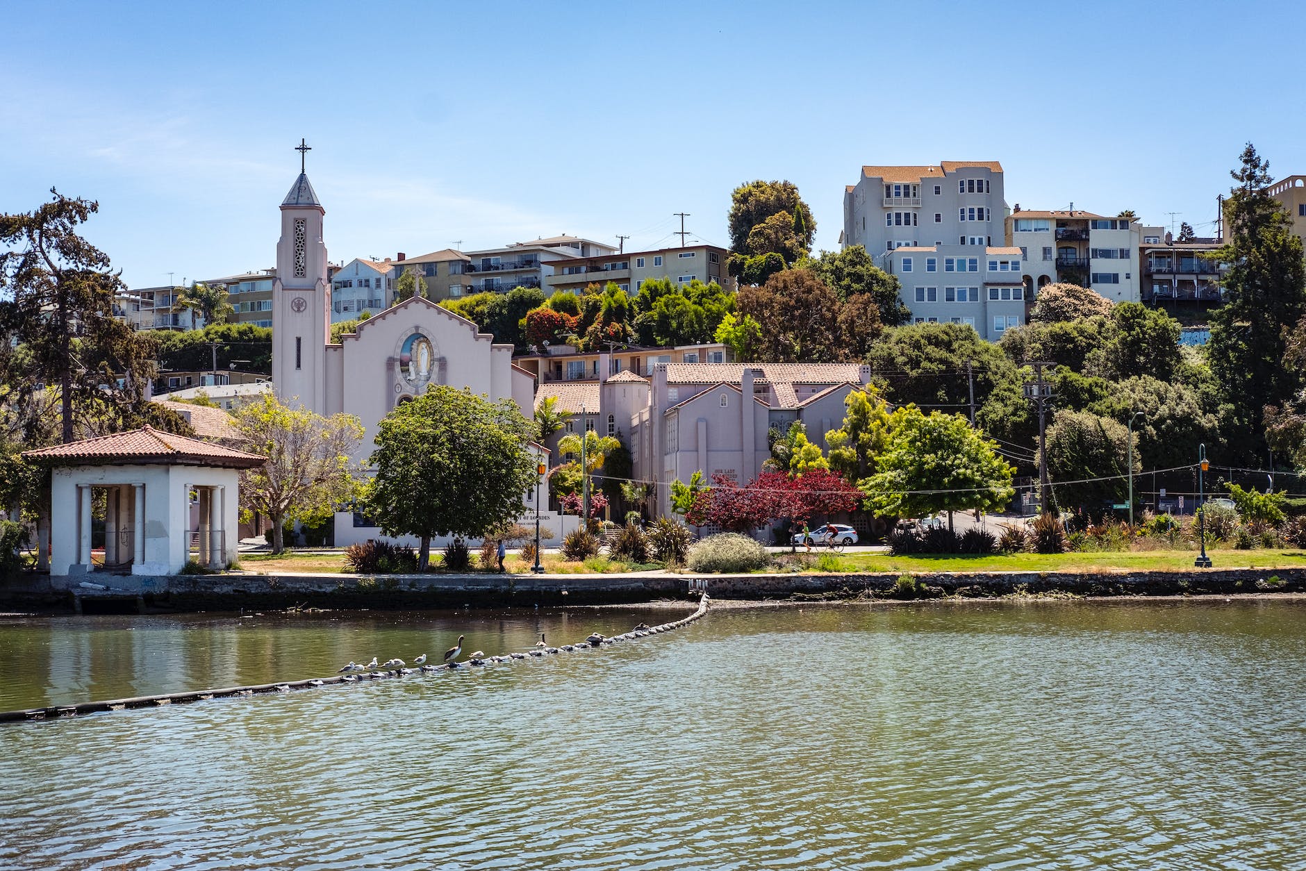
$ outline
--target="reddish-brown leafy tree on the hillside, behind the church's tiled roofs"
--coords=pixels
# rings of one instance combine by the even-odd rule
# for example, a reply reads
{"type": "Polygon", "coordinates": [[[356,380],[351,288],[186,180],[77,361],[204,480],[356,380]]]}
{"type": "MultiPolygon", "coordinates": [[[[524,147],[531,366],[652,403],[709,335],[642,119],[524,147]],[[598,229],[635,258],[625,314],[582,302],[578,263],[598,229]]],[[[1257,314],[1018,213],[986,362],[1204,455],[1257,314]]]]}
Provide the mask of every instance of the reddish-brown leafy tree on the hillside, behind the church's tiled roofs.
{"type": "Polygon", "coordinates": [[[845,358],[838,296],[806,269],[786,269],[761,287],[741,287],[741,317],[765,324],[757,342],[760,363],[829,363],[845,358]]]}

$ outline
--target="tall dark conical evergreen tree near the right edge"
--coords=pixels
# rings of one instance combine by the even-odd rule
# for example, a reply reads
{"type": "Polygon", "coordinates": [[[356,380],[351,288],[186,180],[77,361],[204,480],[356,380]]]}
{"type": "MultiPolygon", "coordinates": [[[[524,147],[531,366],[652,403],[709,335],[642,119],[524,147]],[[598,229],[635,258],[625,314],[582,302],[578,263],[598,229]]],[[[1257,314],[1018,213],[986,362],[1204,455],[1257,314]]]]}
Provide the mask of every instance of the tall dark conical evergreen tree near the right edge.
{"type": "Polygon", "coordinates": [[[1247,145],[1225,201],[1228,242],[1212,259],[1229,264],[1225,303],[1211,313],[1207,359],[1228,405],[1225,435],[1235,456],[1264,456],[1264,410],[1290,401],[1302,372],[1282,366],[1288,332],[1306,315],[1306,264],[1292,219],[1269,195],[1269,165],[1247,145]]]}

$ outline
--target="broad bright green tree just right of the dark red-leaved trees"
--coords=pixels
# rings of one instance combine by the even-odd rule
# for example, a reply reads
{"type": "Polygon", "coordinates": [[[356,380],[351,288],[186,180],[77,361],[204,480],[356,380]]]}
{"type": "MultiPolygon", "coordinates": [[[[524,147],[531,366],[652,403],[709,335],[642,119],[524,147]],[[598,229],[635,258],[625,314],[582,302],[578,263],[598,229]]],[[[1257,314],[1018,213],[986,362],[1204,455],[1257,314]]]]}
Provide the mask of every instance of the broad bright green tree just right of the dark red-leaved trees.
{"type": "Polygon", "coordinates": [[[876,513],[919,517],[955,511],[998,511],[1015,495],[1015,473],[998,445],[955,414],[909,409],[879,458],[879,470],[858,482],[876,513]]]}

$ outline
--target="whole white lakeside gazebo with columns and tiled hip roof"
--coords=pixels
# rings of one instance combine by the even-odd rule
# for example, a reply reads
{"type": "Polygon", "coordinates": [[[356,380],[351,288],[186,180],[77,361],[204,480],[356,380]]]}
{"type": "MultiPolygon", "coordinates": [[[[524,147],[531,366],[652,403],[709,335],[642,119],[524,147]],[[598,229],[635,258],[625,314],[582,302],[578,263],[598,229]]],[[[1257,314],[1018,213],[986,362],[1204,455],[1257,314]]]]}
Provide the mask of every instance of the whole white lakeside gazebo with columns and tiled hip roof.
{"type": "Polygon", "coordinates": [[[201,565],[226,568],[236,560],[239,546],[240,470],[266,461],[151,427],[22,456],[51,467],[52,576],[91,571],[176,575],[192,550],[201,565]],[[91,562],[95,490],[107,499],[101,565],[91,562]],[[192,491],[199,494],[196,529],[189,528],[192,491]]]}

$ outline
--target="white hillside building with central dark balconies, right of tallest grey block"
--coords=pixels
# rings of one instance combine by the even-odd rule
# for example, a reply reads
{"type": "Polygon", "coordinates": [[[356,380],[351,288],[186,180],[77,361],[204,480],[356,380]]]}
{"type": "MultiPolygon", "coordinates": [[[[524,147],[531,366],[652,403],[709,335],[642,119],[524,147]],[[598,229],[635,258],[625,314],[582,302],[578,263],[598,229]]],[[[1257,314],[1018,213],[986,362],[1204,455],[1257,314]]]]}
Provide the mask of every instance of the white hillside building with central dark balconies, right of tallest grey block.
{"type": "Polygon", "coordinates": [[[1020,248],[1027,300],[1054,282],[1092,287],[1111,302],[1139,300],[1136,219],[1083,209],[1040,212],[1017,202],[1006,225],[1007,245],[1020,248]]]}

